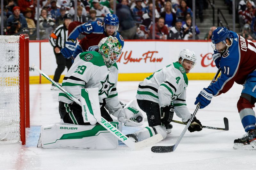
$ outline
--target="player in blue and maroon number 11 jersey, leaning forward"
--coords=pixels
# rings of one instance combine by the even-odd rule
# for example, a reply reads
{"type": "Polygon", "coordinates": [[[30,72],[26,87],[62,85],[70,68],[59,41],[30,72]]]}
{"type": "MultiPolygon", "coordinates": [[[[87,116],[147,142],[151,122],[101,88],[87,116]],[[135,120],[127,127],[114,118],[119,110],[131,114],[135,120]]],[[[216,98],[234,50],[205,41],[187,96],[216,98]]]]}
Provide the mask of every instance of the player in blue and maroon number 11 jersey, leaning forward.
{"type": "Polygon", "coordinates": [[[220,77],[196,97],[200,108],[208,106],[212,96],[227,92],[234,82],[243,85],[237,102],[245,132],[243,137],[234,141],[234,149],[256,149],[256,118],[252,107],[256,102],[256,47],[237,33],[225,27],[218,27],[212,33],[212,56],[216,66],[221,69],[220,77]]]}

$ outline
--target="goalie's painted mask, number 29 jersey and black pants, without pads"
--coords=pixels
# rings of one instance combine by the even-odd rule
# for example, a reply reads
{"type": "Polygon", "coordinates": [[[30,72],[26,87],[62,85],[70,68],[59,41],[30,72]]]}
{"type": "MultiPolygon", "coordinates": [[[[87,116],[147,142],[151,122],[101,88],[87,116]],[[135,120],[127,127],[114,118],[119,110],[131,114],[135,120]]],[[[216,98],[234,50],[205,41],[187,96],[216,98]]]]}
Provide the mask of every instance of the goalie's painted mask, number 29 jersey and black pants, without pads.
{"type": "MultiPolygon", "coordinates": [[[[101,116],[107,121],[116,116],[126,123],[125,114],[117,98],[116,83],[118,68],[116,61],[121,54],[120,42],[112,36],[103,38],[99,43],[99,52],[90,51],[77,55],[73,65],[63,79],[62,87],[79,99],[82,88],[99,88],[101,116]]],[[[65,123],[89,125],[84,123],[82,108],[63,93],[59,93],[59,112],[65,123]]]]}

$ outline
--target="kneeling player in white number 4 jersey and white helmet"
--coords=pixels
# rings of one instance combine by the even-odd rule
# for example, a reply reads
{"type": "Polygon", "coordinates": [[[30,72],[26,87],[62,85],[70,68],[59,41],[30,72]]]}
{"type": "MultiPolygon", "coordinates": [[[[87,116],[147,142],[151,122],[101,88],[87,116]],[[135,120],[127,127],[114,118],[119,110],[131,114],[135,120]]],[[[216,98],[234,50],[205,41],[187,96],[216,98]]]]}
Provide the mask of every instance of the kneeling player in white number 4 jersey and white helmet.
{"type": "MultiPolygon", "coordinates": [[[[187,122],[191,114],[186,106],[186,87],[188,73],[196,64],[196,54],[184,49],[180,52],[178,62],[165,66],[140,82],[137,91],[139,107],[146,112],[148,127],[127,135],[135,142],[160,133],[163,138],[171,133],[173,112],[182,122],[187,122]]],[[[194,118],[188,130],[202,130],[202,124],[194,118]]]]}

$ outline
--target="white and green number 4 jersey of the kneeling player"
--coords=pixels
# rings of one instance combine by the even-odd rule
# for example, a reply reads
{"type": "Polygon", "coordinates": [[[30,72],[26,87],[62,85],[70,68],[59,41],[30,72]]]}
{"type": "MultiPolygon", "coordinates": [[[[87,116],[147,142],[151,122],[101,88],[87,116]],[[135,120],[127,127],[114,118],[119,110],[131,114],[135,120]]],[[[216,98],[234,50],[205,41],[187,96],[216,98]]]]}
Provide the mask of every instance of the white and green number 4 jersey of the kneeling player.
{"type": "Polygon", "coordinates": [[[176,115],[186,122],[191,117],[186,106],[187,86],[186,71],[176,62],[154,72],[140,82],[136,98],[156,102],[159,107],[173,103],[176,115]]]}

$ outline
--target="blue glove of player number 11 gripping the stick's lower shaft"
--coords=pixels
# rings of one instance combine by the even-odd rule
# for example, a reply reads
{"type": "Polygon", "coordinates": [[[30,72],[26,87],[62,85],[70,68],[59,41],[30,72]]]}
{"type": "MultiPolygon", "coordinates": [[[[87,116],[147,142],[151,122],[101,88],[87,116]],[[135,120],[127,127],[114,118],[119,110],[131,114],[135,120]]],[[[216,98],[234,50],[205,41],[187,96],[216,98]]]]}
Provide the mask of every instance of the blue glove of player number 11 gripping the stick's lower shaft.
{"type": "Polygon", "coordinates": [[[201,92],[196,97],[195,105],[200,102],[200,109],[208,106],[211,103],[212,100],[212,94],[208,92],[206,88],[201,90],[201,92]]]}

